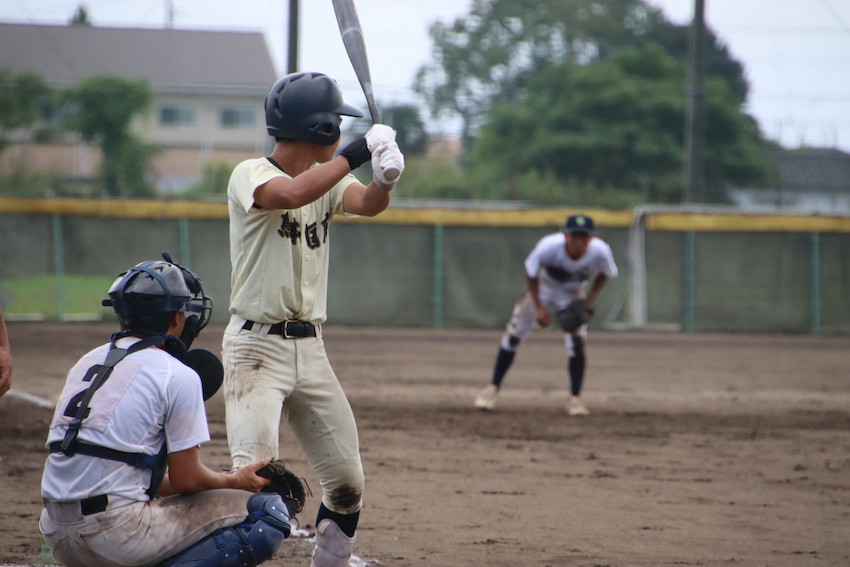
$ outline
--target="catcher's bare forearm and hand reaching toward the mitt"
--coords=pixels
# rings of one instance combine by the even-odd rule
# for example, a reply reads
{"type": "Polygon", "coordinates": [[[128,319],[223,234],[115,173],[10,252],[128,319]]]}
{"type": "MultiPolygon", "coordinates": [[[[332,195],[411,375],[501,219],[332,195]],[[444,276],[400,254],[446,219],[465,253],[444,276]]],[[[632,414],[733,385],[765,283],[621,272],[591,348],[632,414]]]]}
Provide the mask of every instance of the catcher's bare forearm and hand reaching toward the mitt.
{"type": "Polygon", "coordinates": [[[168,455],[168,474],[162,481],[157,496],[173,494],[191,494],[214,490],[216,488],[235,488],[248,492],[260,492],[269,480],[257,476],[256,472],[267,465],[271,459],[265,459],[241,467],[233,473],[216,472],[201,463],[201,450],[192,447],[168,455]]]}

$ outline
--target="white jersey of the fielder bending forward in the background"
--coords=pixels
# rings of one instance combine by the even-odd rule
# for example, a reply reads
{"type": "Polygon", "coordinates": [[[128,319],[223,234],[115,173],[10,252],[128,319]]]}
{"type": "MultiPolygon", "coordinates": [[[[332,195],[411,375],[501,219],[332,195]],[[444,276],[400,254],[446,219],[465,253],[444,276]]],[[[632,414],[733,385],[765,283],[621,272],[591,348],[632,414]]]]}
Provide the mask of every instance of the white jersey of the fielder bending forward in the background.
{"type": "Polygon", "coordinates": [[[567,254],[567,238],[557,232],[540,239],[525,259],[525,272],[540,282],[540,300],[546,306],[566,307],[582,296],[584,286],[598,274],[617,277],[617,265],[611,247],[598,237],[588,243],[587,251],[574,260],[567,254]]]}

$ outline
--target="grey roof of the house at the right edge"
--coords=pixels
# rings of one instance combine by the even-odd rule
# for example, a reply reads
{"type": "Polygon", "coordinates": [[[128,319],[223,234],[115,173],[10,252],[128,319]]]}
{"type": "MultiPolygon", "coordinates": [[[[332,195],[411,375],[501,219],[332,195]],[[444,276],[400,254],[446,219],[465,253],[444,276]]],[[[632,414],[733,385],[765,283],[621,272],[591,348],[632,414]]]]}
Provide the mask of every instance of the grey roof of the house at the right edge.
{"type": "Polygon", "coordinates": [[[771,158],[783,187],[800,191],[850,191],[850,154],[835,149],[777,151],[771,158]]]}

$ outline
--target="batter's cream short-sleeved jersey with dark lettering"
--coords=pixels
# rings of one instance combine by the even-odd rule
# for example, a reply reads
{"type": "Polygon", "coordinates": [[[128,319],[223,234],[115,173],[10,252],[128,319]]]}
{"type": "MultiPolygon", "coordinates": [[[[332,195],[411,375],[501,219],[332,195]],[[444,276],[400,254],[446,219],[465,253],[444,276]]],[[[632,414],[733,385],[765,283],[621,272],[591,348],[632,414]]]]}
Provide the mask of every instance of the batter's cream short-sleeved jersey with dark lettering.
{"type": "Polygon", "coordinates": [[[254,191],[275,177],[291,179],[267,158],[243,161],[230,177],[230,313],[265,324],[319,325],[327,319],[331,218],[344,214],[343,194],[357,178],[346,175],[298,209],[258,208],[254,191]]]}

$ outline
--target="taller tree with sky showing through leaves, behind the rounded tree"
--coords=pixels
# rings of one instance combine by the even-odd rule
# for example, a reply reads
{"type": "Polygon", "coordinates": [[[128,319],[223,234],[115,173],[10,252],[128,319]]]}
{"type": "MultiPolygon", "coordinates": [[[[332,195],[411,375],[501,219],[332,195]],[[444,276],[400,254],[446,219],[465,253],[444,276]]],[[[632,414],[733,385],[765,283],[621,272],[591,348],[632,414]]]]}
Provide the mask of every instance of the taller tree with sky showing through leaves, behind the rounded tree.
{"type": "MultiPolygon", "coordinates": [[[[590,64],[622,47],[659,43],[687,55],[687,27],[675,26],[642,0],[473,0],[469,15],[430,29],[434,60],[414,88],[435,117],[461,120],[464,147],[495,104],[515,101],[529,76],[551,65],[590,64]]],[[[746,96],[739,64],[709,31],[709,73],[746,96]]]]}

